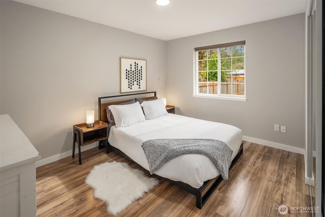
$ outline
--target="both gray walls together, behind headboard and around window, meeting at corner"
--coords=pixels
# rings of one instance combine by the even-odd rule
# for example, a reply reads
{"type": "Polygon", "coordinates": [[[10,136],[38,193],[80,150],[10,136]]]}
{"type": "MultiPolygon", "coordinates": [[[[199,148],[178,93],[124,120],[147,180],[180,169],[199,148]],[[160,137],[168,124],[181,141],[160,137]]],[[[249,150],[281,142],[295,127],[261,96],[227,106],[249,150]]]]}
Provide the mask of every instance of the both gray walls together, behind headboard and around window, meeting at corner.
{"type": "Polygon", "coordinates": [[[119,94],[119,57],[147,59],[148,90],[176,113],[235,125],[245,136],[304,148],[304,14],[161,41],[0,1],[0,113],[42,158],[72,149],[72,126],[119,94]],[[193,98],[193,48],[246,41],[247,101],[193,98]],[[166,69],[168,66],[168,69],[166,69]],[[158,88],[158,69],[167,72],[158,88]],[[287,133],[273,131],[273,125],[287,133]]]}

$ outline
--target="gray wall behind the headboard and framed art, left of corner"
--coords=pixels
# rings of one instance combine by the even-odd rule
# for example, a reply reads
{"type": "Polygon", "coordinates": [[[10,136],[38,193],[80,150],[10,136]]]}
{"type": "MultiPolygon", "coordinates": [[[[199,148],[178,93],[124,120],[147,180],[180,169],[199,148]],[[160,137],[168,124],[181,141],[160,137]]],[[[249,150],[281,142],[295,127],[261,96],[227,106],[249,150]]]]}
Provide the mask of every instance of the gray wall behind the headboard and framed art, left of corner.
{"type": "MultiPolygon", "coordinates": [[[[42,159],[72,149],[72,126],[98,114],[98,97],[119,94],[119,57],[147,59],[158,90],[166,42],[25,4],[1,4],[1,114],[42,159]]],[[[14,138],[13,138],[14,139],[14,138]]]]}

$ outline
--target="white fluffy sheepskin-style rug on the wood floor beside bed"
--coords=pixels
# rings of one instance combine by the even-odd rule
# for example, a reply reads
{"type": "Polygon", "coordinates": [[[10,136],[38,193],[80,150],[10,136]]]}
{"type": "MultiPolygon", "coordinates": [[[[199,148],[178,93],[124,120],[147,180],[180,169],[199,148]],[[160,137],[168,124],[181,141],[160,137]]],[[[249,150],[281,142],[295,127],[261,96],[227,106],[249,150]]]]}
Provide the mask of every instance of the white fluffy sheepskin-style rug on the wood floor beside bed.
{"type": "Polygon", "coordinates": [[[141,198],[158,184],[158,179],[145,176],[124,162],[107,162],[94,166],[86,178],[95,198],[104,200],[113,215],[141,198]]]}

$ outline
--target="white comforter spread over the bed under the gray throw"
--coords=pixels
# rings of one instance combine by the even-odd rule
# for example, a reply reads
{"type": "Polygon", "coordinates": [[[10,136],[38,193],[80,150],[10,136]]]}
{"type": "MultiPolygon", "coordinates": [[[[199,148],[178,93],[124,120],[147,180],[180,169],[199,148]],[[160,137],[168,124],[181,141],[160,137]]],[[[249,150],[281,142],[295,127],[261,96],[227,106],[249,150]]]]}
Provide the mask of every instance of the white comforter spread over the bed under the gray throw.
{"type": "MultiPolygon", "coordinates": [[[[167,114],[129,127],[117,128],[113,126],[108,142],[123,151],[140,166],[149,170],[141,145],[146,140],[162,138],[218,139],[233,149],[233,160],[242,142],[242,131],[224,123],[167,114]]],[[[200,188],[204,181],[218,176],[219,171],[206,156],[186,154],[169,161],[155,174],[174,181],[182,181],[193,188],[200,188]]]]}

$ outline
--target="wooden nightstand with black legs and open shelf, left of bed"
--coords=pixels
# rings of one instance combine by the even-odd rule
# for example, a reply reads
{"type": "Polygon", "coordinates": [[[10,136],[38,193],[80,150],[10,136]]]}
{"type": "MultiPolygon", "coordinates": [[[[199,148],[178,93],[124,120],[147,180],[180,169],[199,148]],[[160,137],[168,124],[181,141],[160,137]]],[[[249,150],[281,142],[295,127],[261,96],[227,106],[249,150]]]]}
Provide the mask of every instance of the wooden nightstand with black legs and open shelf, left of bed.
{"type": "Polygon", "coordinates": [[[78,143],[79,164],[81,164],[80,146],[87,145],[93,142],[102,141],[108,138],[107,123],[95,120],[92,128],[87,128],[86,123],[79,123],[73,126],[73,147],[72,158],[75,158],[75,145],[78,143]]]}

